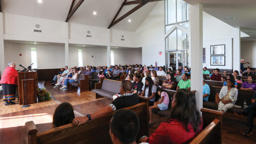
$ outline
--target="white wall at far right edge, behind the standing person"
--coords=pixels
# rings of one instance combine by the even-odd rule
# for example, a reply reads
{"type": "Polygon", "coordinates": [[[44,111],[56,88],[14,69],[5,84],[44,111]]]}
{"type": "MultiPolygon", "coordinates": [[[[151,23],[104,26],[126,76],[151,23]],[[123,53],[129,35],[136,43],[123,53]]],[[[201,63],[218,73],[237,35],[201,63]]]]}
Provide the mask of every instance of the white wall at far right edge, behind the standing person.
{"type": "Polygon", "coordinates": [[[249,61],[250,64],[245,64],[244,66],[251,66],[256,68],[256,41],[246,41],[241,42],[241,58],[249,61]]]}

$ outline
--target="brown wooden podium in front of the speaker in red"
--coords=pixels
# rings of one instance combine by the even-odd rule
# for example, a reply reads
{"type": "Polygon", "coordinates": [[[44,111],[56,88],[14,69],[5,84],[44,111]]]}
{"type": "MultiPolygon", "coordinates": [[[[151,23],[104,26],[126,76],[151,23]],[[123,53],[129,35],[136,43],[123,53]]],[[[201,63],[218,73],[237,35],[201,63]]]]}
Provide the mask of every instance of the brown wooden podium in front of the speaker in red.
{"type": "MultiPolygon", "coordinates": [[[[27,104],[33,104],[37,102],[37,74],[36,72],[25,72],[26,75],[26,94],[27,104]]],[[[19,104],[25,105],[25,80],[24,72],[18,72],[18,91],[19,91],[19,104]]]]}

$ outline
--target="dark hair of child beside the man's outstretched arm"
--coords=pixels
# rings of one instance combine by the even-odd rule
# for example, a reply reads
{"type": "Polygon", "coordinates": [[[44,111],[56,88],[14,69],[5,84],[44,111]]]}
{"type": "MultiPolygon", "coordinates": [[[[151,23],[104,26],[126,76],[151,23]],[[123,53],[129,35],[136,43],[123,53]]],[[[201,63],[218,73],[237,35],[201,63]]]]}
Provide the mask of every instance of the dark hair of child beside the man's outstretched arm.
{"type": "Polygon", "coordinates": [[[53,115],[53,125],[54,127],[60,127],[65,124],[72,123],[75,118],[74,110],[70,103],[63,102],[55,110],[53,115]]]}

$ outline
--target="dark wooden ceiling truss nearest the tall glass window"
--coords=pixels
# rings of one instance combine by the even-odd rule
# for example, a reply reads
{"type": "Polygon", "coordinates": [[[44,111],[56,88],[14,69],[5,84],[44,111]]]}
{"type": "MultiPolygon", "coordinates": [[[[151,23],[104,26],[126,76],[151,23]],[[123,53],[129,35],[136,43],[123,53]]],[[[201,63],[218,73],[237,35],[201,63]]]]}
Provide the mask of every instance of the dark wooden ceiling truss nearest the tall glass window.
{"type": "Polygon", "coordinates": [[[123,2],[123,4],[121,5],[121,7],[119,8],[117,14],[115,15],[114,19],[112,20],[112,22],[110,23],[108,29],[110,29],[111,27],[113,27],[115,24],[119,23],[121,20],[125,19],[126,17],[128,17],[130,14],[132,14],[134,11],[138,10],[140,7],[144,6],[145,4],[147,4],[148,2],[155,2],[155,1],[160,1],[160,0],[133,0],[133,1],[127,1],[125,0],[123,2]],[[139,1],[139,2],[138,2],[139,1]],[[136,4],[135,2],[138,2],[139,4],[137,6],[135,6],[134,8],[132,8],[130,11],[128,11],[126,14],[124,14],[123,16],[121,16],[119,19],[116,20],[118,14],[120,13],[120,11],[122,10],[122,8],[124,7],[124,5],[129,5],[129,3],[131,4],[136,4]],[[144,2],[142,4],[142,2],[144,2]],[[126,4],[128,3],[128,4],[126,4]]]}

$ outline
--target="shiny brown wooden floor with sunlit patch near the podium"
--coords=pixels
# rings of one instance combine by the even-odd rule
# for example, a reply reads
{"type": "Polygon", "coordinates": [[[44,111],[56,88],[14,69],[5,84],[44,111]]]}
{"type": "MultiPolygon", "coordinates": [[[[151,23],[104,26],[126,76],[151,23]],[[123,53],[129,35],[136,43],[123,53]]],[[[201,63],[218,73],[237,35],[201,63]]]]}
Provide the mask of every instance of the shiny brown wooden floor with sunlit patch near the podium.
{"type": "MultiPolygon", "coordinates": [[[[43,87],[43,85],[39,85],[43,87]]],[[[22,105],[14,104],[5,106],[0,99],[0,144],[22,144],[27,136],[25,122],[33,120],[39,132],[52,127],[53,114],[56,107],[62,102],[69,102],[74,108],[75,116],[84,116],[93,113],[111,103],[112,99],[103,97],[95,98],[95,93],[77,93],[77,89],[60,91],[59,88],[45,83],[46,89],[54,96],[51,100],[31,104],[22,108],[22,105]]],[[[17,102],[17,100],[16,100],[17,102]]],[[[222,143],[223,144],[256,144],[256,132],[250,137],[243,136],[246,128],[246,118],[230,119],[232,115],[223,118],[222,143]]],[[[155,125],[149,128],[149,134],[154,133],[159,124],[166,119],[154,114],[155,125]]],[[[255,122],[256,130],[256,122],[255,122]]]]}

